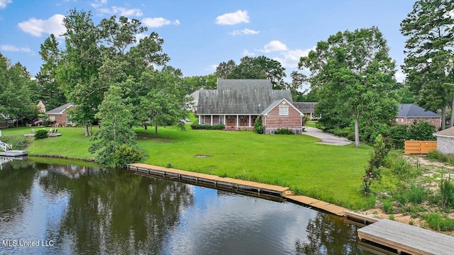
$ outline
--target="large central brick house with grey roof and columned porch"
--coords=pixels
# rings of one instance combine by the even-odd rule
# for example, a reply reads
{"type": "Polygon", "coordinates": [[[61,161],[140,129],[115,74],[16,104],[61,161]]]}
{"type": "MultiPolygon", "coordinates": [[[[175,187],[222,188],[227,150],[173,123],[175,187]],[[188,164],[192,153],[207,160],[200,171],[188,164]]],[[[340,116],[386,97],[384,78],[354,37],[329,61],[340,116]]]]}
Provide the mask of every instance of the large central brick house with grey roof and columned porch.
{"type": "Polygon", "coordinates": [[[269,79],[218,79],[217,89],[201,89],[199,124],[224,124],[228,129],[253,130],[262,115],[265,133],[277,128],[301,132],[302,116],[289,90],[272,89],[269,79]]]}

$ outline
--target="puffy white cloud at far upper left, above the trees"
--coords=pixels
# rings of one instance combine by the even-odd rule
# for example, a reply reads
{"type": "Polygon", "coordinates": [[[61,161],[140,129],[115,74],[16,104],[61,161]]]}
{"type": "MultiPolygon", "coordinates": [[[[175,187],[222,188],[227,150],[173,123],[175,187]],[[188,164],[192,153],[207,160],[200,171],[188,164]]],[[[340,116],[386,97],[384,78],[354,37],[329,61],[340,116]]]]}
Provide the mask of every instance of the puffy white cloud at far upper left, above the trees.
{"type": "Polygon", "coordinates": [[[65,26],[63,26],[63,18],[61,14],[55,14],[47,20],[41,20],[38,18],[30,18],[28,21],[18,23],[19,28],[25,33],[29,33],[33,36],[40,37],[43,33],[54,34],[56,37],[66,32],[65,26]]]}

